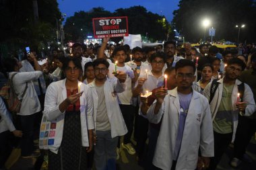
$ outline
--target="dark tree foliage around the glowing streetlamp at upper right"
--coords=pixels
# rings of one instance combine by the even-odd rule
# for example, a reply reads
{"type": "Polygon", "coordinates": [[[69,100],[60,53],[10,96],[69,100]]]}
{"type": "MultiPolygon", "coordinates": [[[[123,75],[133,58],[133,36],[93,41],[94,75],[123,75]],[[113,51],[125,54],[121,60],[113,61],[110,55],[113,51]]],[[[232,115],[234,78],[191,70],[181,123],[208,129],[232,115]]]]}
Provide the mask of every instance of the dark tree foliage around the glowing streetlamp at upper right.
{"type": "MultiPolygon", "coordinates": [[[[197,42],[203,38],[202,20],[209,18],[211,27],[216,28],[215,40],[237,40],[236,25],[245,24],[240,40],[255,40],[256,6],[253,0],[181,0],[179,9],[173,12],[172,26],[183,34],[186,40],[197,42]]],[[[206,34],[208,31],[206,30],[206,34]]],[[[210,37],[208,37],[208,40],[210,37]]]]}

